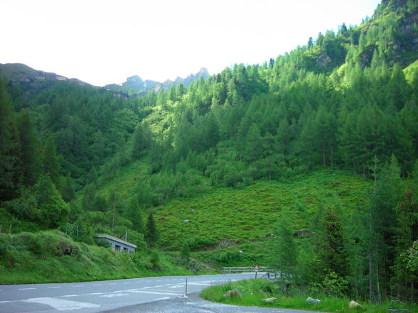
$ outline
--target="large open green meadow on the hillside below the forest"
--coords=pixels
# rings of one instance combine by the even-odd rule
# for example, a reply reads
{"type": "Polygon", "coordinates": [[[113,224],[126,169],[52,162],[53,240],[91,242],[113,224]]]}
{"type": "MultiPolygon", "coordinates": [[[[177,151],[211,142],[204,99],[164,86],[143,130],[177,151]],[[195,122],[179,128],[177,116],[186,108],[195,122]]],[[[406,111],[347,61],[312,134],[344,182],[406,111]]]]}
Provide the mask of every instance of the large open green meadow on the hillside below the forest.
{"type": "Polygon", "coordinates": [[[253,249],[253,243],[268,244],[283,215],[290,217],[295,231],[308,229],[321,205],[336,205],[348,215],[364,205],[370,184],[350,172],[318,170],[286,182],[261,181],[242,189],[223,187],[175,199],[154,211],[160,243],[178,249],[183,241],[205,239],[212,248],[253,249]]]}

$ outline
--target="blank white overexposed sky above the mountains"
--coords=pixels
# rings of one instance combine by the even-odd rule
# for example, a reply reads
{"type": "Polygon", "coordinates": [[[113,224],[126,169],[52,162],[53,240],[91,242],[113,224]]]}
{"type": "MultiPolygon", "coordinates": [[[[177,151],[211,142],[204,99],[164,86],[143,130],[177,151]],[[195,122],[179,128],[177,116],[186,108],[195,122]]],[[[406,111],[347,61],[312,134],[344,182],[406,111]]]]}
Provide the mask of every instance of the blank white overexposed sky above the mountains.
{"type": "Polygon", "coordinates": [[[0,62],[102,86],[254,64],[321,31],[359,25],[380,0],[0,0],[0,62]]]}

